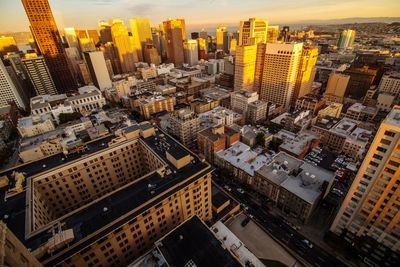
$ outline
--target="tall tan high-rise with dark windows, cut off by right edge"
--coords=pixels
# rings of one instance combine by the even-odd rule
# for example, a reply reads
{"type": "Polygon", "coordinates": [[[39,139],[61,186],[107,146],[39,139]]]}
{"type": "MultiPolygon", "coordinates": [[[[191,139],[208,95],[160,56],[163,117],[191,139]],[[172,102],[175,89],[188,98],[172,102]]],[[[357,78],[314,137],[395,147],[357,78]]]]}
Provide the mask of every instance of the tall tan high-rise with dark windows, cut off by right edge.
{"type": "Polygon", "coordinates": [[[390,266],[383,264],[387,248],[400,250],[399,183],[400,106],[395,106],[379,126],[331,226],[375,266],[390,266]]]}

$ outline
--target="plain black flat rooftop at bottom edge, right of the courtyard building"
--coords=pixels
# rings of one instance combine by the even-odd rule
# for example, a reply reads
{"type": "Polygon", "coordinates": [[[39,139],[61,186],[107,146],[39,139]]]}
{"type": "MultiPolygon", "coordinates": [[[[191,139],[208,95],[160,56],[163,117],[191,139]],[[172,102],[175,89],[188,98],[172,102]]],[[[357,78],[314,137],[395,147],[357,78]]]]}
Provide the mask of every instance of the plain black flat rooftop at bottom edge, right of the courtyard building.
{"type": "Polygon", "coordinates": [[[197,216],[164,236],[156,246],[169,266],[242,266],[197,216]]]}

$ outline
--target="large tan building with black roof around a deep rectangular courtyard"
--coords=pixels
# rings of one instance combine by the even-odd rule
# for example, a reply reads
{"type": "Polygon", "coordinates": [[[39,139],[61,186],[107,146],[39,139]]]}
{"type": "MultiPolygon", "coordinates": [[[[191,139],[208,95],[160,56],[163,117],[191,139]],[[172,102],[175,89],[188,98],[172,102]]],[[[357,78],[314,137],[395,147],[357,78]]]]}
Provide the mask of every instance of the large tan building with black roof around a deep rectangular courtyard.
{"type": "Polygon", "coordinates": [[[212,219],[211,166],[161,129],[133,124],[86,145],[0,174],[33,178],[0,216],[44,266],[127,266],[193,215],[212,219]]]}

